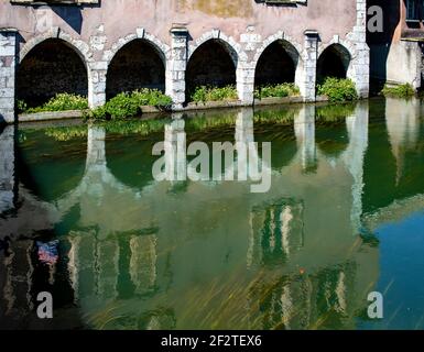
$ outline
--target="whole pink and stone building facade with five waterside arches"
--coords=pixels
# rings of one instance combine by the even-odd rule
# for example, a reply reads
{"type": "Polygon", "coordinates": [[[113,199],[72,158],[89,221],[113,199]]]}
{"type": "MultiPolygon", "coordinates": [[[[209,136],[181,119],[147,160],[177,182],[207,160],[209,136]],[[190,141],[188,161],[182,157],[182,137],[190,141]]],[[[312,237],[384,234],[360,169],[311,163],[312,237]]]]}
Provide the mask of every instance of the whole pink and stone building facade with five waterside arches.
{"type": "Polygon", "coordinates": [[[235,85],[237,105],[251,106],[258,87],[291,81],[304,101],[313,102],[320,55],[333,46],[337,51],[331,52],[344,53],[338,59],[346,77],[355,81],[361,98],[368,97],[366,0],[337,6],[309,0],[289,8],[235,0],[246,7],[231,13],[237,21],[228,20],[229,13],[210,13],[214,3],[210,0],[210,8],[204,9],[196,1],[189,8],[176,0],[157,0],[153,8],[148,0],[104,1],[98,9],[83,7],[84,25],[77,31],[69,25],[73,19],[53,9],[43,9],[51,24],[43,28],[36,7],[1,2],[0,12],[9,15],[0,19],[0,28],[7,28],[0,31],[0,119],[14,121],[21,96],[26,101],[44,94],[40,98],[45,100],[56,91],[87,95],[96,108],[121,91],[157,88],[180,111],[198,85],[235,85]],[[152,15],[139,15],[146,11],[152,15]],[[333,23],[336,16],[340,20],[333,23]],[[33,89],[37,85],[41,88],[33,89]]]}

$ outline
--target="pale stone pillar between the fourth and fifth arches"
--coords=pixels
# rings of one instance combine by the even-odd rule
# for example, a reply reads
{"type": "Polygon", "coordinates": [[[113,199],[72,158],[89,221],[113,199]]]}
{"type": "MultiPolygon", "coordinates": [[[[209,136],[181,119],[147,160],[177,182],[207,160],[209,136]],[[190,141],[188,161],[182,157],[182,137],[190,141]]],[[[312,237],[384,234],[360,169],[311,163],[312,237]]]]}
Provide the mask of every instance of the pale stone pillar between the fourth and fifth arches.
{"type": "Polygon", "coordinates": [[[305,31],[304,74],[300,89],[305,101],[315,101],[318,33],[305,31]]]}

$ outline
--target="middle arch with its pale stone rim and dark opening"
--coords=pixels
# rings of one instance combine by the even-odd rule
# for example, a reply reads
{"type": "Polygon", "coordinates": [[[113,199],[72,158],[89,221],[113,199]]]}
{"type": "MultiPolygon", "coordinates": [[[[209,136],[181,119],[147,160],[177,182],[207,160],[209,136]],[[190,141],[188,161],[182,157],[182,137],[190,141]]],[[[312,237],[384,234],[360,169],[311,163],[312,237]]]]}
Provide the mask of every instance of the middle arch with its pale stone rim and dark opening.
{"type": "Polygon", "coordinates": [[[241,61],[246,57],[231,37],[219,30],[202,35],[188,47],[186,100],[198,86],[236,86],[241,61]]]}

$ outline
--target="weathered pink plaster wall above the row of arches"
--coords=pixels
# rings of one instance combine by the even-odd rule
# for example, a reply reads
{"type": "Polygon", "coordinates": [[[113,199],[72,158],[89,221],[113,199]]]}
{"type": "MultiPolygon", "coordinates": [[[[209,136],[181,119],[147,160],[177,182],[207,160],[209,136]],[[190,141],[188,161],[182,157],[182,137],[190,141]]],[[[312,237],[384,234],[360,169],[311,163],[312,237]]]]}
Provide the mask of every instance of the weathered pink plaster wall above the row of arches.
{"type": "MultiPolygon", "coordinates": [[[[69,7],[68,10],[72,10],[69,7]]],[[[17,28],[24,38],[33,36],[35,10],[31,6],[0,3],[0,28],[17,28]]],[[[100,8],[81,8],[80,37],[88,41],[100,24],[105,24],[110,47],[119,37],[144,28],[162,42],[170,43],[172,23],[186,23],[192,37],[197,38],[214,28],[239,41],[248,25],[267,37],[283,30],[298,42],[306,29],[317,30],[324,42],[333,35],[344,37],[356,24],[356,0],[309,0],[307,6],[275,7],[254,0],[107,0],[100,8]]],[[[53,13],[53,25],[78,35],[63,19],[53,13]]]]}

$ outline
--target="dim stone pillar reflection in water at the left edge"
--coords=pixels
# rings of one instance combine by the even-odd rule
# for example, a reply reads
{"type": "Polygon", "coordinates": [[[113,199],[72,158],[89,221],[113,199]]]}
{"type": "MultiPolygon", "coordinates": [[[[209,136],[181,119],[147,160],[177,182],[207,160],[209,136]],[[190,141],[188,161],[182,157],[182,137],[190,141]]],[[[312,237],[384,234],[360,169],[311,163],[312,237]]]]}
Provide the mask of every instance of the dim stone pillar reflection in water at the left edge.
{"type": "Polygon", "coordinates": [[[14,127],[0,134],[0,213],[12,209],[14,201],[14,127]]]}

